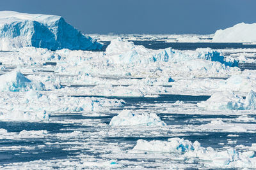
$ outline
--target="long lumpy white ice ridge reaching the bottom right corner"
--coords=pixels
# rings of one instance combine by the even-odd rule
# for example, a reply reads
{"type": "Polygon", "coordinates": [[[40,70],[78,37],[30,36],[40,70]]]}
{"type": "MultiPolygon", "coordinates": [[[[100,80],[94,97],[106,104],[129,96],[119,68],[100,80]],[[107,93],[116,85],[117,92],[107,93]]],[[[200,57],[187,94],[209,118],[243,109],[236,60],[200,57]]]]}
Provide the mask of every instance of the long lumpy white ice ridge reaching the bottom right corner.
{"type": "Polygon", "coordinates": [[[205,167],[236,168],[256,166],[256,158],[253,151],[238,152],[236,148],[226,148],[218,151],[214,148],[204,148],[198,141],[170,138],[168,141],[145,141],[139,139],[131,153],[143,152],[168,152],[179,153],[180,159],[196,158],[206,160],[205,167]]]}

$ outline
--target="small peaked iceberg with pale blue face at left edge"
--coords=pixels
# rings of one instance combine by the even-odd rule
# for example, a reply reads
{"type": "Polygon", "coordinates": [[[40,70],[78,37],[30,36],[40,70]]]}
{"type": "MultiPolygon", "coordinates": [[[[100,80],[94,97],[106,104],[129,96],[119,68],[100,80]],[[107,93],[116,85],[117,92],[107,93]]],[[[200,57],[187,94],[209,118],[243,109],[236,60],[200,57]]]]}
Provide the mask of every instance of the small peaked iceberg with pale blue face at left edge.
{"type": "Polygon", "coordinates": [[[45,90],[45,85],[40,81],[29,80],[20,71],[12,71],[0,76],[0,91],[2,92],[24,92],[30,89],[45,90]]]}

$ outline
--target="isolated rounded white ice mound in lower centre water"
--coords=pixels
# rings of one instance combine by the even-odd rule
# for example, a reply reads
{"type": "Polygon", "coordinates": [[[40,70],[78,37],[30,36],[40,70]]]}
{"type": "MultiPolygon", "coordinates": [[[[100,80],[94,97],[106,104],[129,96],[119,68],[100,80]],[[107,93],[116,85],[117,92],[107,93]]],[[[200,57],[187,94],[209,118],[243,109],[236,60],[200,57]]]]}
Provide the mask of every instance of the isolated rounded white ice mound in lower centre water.
{"type": "Polygon", "coordinates": [[[130,110],[123,110],[113,117],[109,123],[111,126],[164,126],[166,125],[155,113],[134,114],[130,110]]]}

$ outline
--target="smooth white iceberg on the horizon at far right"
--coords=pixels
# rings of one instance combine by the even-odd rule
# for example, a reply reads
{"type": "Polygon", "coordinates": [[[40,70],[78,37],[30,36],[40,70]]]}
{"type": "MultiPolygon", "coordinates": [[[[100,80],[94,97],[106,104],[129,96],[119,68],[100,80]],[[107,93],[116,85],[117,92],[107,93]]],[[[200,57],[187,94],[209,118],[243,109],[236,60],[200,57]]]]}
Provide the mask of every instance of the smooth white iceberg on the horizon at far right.
{"type": "Polygon", "coordinates": [[[230,42],[255,42],[256,41],[256,23],[245,24],[244,22],[228,27],[227,29],[220,29],[215,32],[212,41],[221,43],[230,42]]]}

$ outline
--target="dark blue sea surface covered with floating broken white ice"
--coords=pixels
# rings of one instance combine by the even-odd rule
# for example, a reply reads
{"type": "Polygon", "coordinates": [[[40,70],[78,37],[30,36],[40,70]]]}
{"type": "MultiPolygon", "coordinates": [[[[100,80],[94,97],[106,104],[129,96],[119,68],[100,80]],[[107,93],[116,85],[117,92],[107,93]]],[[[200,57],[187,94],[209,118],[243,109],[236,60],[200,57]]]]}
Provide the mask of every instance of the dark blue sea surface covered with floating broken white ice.
{"type": "Polygon", "coordinates": [[[115,45],[125,53],[0,52],[1,169],[255,169],[256,46],[115,45]],[[148,52],[168,47],[184,59],[148,52]]]}

